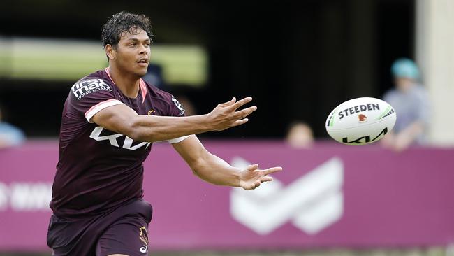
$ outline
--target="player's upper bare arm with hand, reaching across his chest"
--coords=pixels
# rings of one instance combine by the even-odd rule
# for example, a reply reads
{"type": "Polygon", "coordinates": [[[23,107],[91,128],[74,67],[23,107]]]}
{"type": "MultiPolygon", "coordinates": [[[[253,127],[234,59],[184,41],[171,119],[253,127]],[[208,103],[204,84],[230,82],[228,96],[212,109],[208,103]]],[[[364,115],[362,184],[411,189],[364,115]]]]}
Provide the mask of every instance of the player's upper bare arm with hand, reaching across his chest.
{"type": "Polygon", "coordinates": [[[156,115],[138,115],[136,111],[124,104],[104,108],[91,120],[97,125],[129,136],[135,141],[166,141],[190,134],[206,131],[221,131],[248,121],[247,115],[256,111],[256,106],[237,111],[251,101],[251,97],[218,104],[208,114],[189,117],[170,117],[156,115]]]}

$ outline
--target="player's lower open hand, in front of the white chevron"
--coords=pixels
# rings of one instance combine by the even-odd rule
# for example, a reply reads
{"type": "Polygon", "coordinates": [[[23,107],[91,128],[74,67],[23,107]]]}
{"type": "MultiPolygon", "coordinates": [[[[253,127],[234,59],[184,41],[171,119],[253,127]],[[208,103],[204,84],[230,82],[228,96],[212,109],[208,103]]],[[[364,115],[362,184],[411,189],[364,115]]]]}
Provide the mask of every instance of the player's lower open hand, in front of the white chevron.
{"type": "Polygon", "coordinates": [[[272,181],[272,178],[267,175],[277,171],[282,171],[282,167],[261,170],[258,169],[258,164],[251,164],[247,166],[247,169],[240,171],[240,187],[244,188],[244,190],[254,190],[261,183],[272,181]]]}

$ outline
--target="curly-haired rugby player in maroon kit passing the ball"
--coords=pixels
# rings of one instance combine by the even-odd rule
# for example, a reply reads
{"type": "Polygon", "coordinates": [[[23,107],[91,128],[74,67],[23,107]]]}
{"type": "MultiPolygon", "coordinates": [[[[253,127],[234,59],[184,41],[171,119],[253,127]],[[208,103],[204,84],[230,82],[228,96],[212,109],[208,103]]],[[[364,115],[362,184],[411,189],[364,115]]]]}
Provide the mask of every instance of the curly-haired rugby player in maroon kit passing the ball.
{"type": "Polygon", "coordinates": [[[47,244],[54,255],[147,254],[152,208],[142,199],[142,162],[154,141],[168,140],[193,173],[216,185],[252,190],[281,170],[239,170],[205,150],[191,134],[242,125],[256,106],[238,110],[251,97],[233,98],[206,115],[183,116],[171,94],[141,79],[149,35],[145,15],[113,15],[102,32],[108,68],[71,87],[50,203],[47,244]]]}

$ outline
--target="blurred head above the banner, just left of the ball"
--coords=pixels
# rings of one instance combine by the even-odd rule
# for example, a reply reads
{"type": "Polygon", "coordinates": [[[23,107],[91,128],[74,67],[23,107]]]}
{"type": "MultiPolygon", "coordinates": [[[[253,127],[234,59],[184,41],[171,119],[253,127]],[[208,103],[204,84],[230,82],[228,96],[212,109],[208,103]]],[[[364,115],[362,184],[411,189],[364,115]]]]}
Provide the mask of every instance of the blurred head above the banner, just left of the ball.
{"type": "Polygon", "coordinates": [[[288,127],[286,143],[292,148],[310,148],[314,143],[314,133],[306,122],[292,122],[288,127]]]}

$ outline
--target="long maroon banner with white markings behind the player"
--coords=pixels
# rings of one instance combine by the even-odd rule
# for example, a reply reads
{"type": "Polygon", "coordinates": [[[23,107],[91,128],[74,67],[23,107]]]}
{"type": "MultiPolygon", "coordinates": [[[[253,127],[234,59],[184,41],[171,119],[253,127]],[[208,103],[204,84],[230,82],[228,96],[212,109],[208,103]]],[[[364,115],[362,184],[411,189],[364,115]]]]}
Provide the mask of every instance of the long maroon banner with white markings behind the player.
{"type": "MultiPolygon", "coordinates": [[[[205,141],[234,166],[282,166],[254,191],[211,185],[153,145],[152,250],[437,246],[454,241],[454,149],[205,141]]],[[[46,250],[57,142],[0,150],[0,250],[46,250]]]]}

